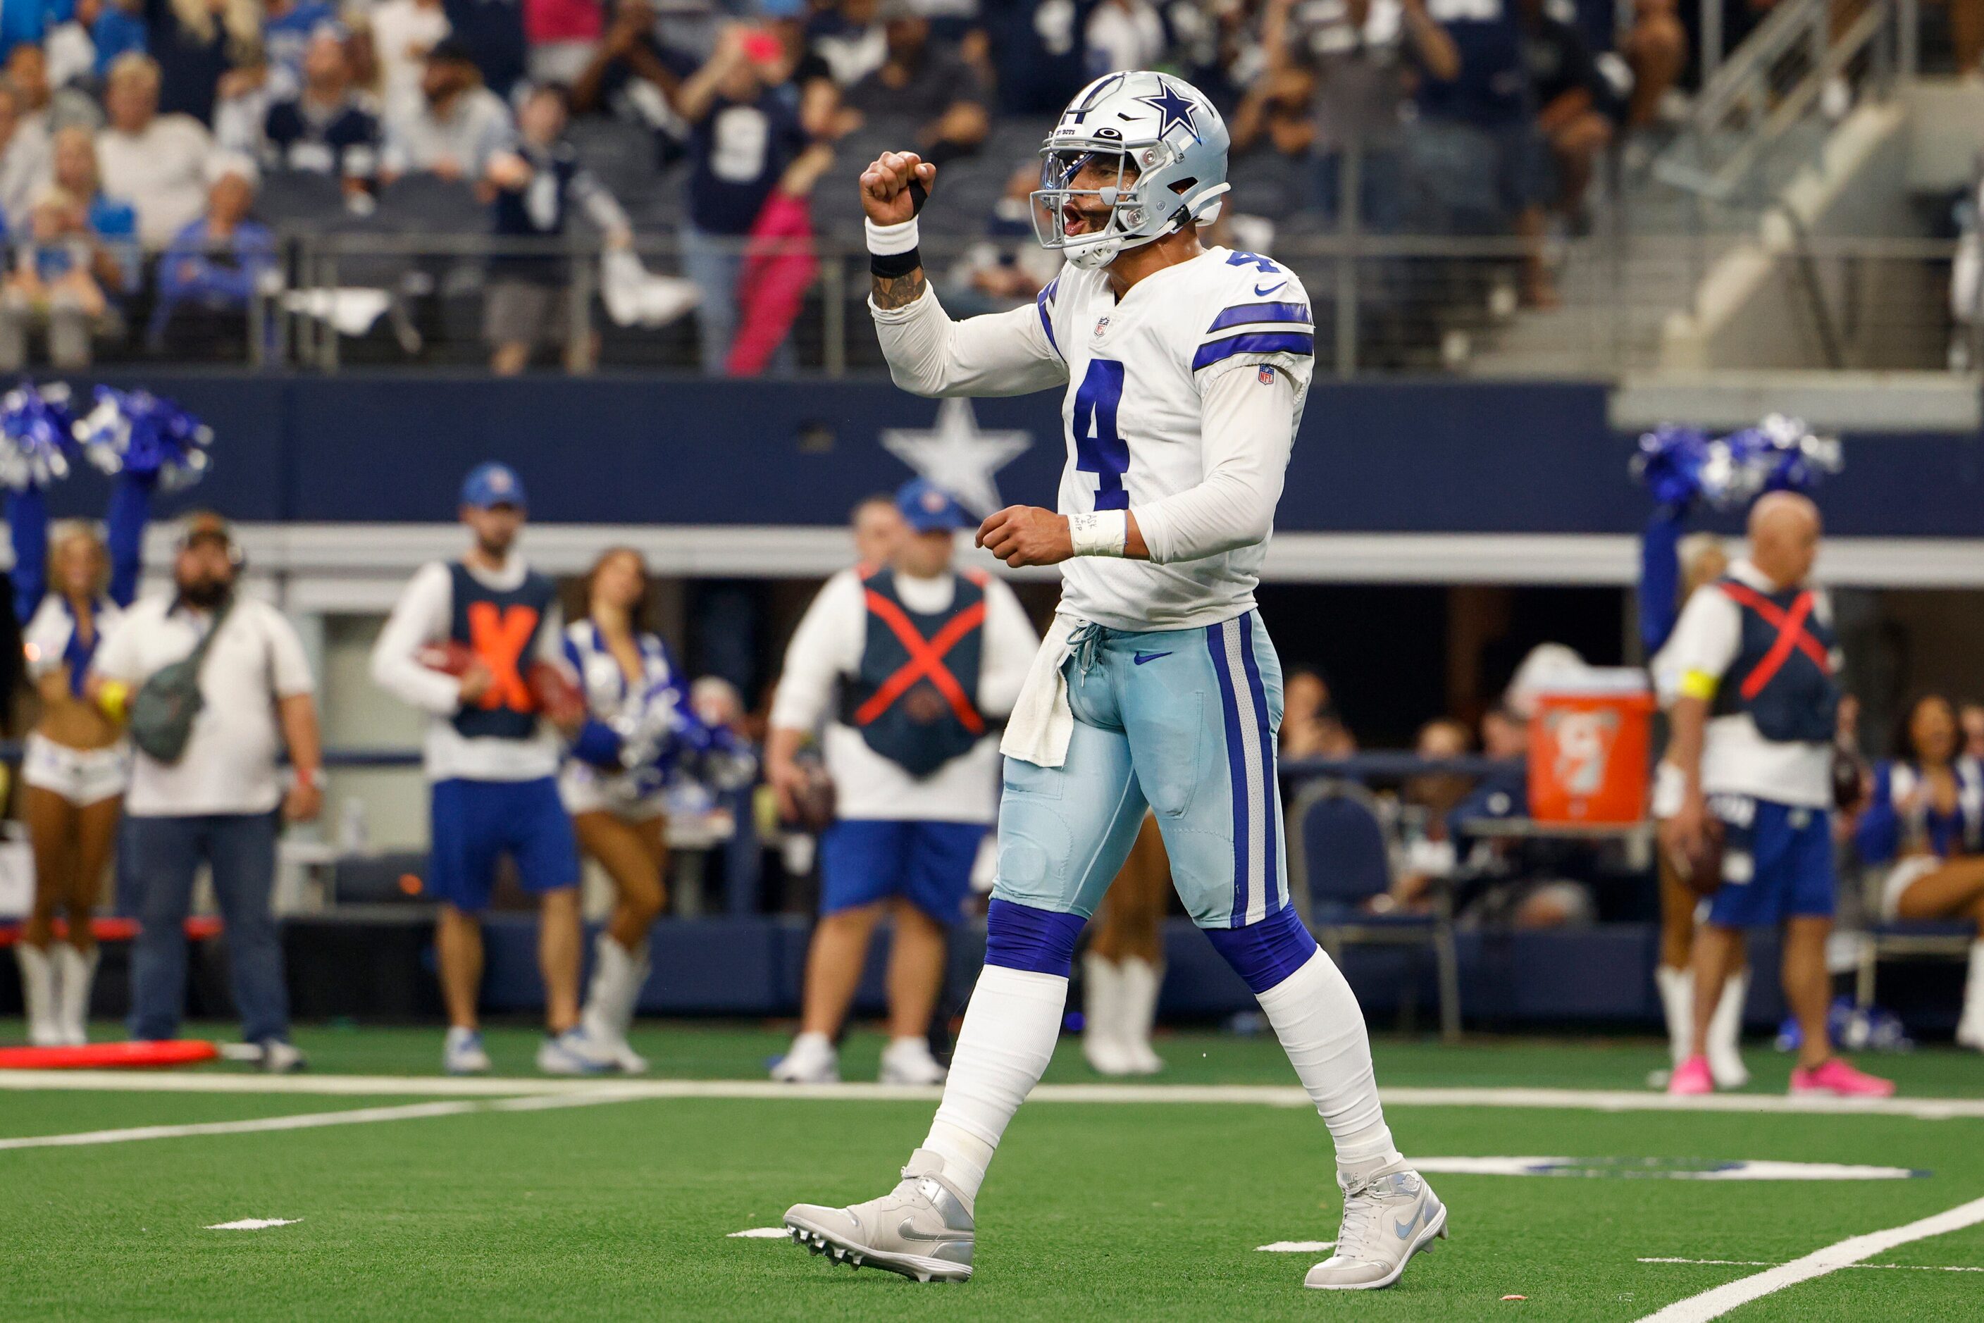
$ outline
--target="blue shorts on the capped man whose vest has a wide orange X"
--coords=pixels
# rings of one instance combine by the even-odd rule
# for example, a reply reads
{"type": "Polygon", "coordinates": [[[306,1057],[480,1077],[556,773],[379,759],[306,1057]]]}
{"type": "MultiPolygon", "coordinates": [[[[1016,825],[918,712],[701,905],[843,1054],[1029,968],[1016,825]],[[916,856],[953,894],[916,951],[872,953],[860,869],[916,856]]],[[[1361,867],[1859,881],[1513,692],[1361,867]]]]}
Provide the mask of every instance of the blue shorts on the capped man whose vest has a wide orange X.
{"type": "Polygon", "coordinates": [[[558,782],[464,782],[433,785],[433,857],[427,891],[458,910],[488,908],[496,859],[510,855],[524,891],[579,885],[579,843],[558,799],[558,782]]]}

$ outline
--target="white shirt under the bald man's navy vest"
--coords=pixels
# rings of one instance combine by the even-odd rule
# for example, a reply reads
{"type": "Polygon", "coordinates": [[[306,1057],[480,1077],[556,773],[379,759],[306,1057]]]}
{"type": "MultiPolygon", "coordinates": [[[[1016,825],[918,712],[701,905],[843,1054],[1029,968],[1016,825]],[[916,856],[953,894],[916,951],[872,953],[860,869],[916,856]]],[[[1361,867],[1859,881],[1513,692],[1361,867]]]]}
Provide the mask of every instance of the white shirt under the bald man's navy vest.
{"type": "MultiPolygon", "coordinates": [[[[1760,593],[1778,591],[1750,561],[1730,565],[1730,577],[1760,593]]],[[[1817,593],[1813,617],[1831,619],[1831,603],[1817,593]]],[[[1680,696],[1714,702],[1718,682],[1742,653],[1742,607],[1714,585],[1702,585],[1680,609],[1674,633],[1653,659],[1655,684],[1661,702],[1673,706],[1680,696]]],[[[1833,803],[1833,746],[1798,740],[1766,740],[1748,712],[1708,718],[1702,736],[1702,793],[1748,795],[1823,809],[1833,803]]],[[[1657,805],[1655,815],[1661,813],[1657,805]]]]}

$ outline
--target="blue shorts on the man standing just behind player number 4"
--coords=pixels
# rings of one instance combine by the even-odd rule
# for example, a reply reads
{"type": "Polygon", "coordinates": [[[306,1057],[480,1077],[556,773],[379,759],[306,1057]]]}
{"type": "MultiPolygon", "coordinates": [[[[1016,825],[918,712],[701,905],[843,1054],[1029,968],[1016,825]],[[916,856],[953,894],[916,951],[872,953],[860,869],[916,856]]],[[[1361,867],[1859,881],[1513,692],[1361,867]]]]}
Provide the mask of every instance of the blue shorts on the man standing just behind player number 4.
{"type": "Polygon", "coordinates": [[[984,823],[837,821],[819,835],[819,912],[903,897],[936,922],[964,918],[984,823]]]}

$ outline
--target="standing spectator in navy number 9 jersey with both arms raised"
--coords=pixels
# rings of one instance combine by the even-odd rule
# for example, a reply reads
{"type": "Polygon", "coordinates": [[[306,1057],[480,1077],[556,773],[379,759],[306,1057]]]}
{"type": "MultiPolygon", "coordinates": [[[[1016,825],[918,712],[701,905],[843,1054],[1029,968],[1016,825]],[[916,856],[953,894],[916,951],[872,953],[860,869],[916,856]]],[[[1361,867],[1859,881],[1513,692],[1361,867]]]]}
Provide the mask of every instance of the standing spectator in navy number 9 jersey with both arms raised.
{"type": "MultiPolygon", "coordinates": [[[[702,371],[720,375],[738,321],[738,274],[744,240],[780,175],[806,149],[800,89],[776,81],[786,61],[778,40],[732,26],[716,54],[696,69],[677,99],[688,135],[688,222],[682,268],[702,301],[702,371]]],[[[790,355],[790,345],[782,349],[790,355]]]]}

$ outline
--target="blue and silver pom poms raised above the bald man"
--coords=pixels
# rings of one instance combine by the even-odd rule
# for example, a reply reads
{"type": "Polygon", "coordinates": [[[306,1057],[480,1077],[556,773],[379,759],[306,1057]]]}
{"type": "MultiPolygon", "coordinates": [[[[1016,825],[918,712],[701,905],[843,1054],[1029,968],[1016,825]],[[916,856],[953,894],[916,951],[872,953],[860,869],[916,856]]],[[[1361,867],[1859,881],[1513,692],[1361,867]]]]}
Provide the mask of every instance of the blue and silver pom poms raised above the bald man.
{"type": "Polygon", "coordinates": [[[1639,438],[1633,476],[1663,506],[1694,498],[1740,510],[1764,492],[1811,492],[1841,468],[1837,436],[1817,436],[1801,419],[1774,413],[1756,426],[1710,438],[1698,426],[1663,422],[1639,438]]]}

